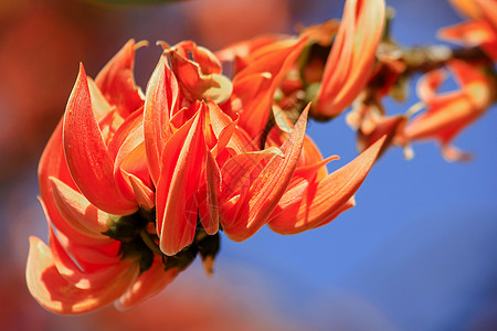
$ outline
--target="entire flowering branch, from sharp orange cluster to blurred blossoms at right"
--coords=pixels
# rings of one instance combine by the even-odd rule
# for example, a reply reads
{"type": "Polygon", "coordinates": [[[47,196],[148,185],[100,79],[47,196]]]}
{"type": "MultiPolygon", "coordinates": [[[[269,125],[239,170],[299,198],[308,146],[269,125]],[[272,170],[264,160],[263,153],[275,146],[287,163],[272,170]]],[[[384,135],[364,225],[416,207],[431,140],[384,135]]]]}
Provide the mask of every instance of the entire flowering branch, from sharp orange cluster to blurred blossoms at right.
{"type": "Polygon", "coordinates": [[[129,41],[95,79],[81,65],[40,161],[50,238],[30,238],[32,296],[57,313],[129,309],[198,255],[210,275],[221,231],[242,242],[264,225],[296,234],[331,222],[355,205],[390,146],[434,138],[447,159],[464,159],[450,142],[495,102],[493,61],[413,58],[389,40],[387,19],[383,0],[347,0],[341,22],[297,36],[263,35],[215,53],[159,42],[145,93],[133,68],[146,42],[129,41]],[[461,89],[437,92],[442,66],[461,89]],[[414,107],[425,111],[388,116],[382,98],[413,72],[425,73],[414,107]],[[308,116],[330,120],[350,105],[361,153],[328,173],[338,157],[322,158],[306,136],[308,116]]]}

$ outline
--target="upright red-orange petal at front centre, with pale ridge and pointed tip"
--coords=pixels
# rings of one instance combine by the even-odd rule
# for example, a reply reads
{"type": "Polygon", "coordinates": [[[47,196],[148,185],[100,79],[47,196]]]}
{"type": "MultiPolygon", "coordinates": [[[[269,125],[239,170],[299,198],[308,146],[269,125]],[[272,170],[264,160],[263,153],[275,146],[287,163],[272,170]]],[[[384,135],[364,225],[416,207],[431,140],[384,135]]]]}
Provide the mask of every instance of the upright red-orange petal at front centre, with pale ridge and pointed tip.
{"type": "Polygon", "coordinates": [[[162,153],[162,167],[157,184],[157,233],[160,249],[175,255],[191,244],[197,227],[198,202],[195,193],[201,186],[204,169],[205,141],[201,104],[194,118],[168,140],[162,153]]]}

